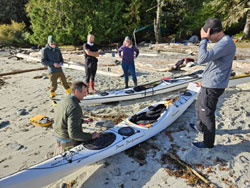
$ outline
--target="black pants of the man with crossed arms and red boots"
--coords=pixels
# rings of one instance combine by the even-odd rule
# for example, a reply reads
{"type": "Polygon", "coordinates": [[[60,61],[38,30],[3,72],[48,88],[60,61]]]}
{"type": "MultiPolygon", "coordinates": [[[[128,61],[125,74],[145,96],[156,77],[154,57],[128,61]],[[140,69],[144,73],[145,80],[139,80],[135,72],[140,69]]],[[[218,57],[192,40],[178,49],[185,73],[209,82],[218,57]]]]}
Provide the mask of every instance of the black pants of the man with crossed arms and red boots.
{"type": "Polygon", "coordinates": [[[85,73],[86,73],[86,83],[95,81],[95,75],[97,70],[97,61],[92,58],[85,58],[85,73]]]}

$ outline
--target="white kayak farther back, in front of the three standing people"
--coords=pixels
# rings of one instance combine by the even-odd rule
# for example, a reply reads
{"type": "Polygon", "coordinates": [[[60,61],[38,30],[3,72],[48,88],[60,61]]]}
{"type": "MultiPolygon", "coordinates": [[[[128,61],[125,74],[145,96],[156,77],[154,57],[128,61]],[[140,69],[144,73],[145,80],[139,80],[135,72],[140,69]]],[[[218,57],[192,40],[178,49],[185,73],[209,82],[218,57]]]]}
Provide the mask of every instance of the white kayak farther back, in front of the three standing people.
{"type": "Polygon", "coordinates": [[[190,82],[200,81],[202,78],[202,73],[203,71],[199,70],[186,76],[166,79],[163,78],[162,80],[134,88],[99,92],[95,95],[88,95],[84,97],[81,105],[132,100],[175,91],[186,88],[190,82]]]}

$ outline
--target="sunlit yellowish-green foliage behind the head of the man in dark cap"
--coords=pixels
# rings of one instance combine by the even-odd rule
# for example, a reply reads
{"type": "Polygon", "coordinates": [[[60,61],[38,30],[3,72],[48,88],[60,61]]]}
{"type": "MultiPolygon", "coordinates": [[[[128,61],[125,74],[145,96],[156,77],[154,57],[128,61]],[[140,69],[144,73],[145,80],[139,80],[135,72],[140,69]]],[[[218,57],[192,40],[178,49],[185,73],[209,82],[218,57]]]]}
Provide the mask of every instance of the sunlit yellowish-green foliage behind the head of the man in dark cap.
{"type": "Polygon", "coordinates": [[[185,15],[186,24],[183,30],[186,35],[198,34],[205,20],[209,17],[219,18],[225,30],[235,30],[235,27],[244,24],[245,19],[243,18],[249,10],[247,8],[250,5],[249,3],[248,0],[205,0],[203,3],[197,3],[197,10],[189,11],[185,15]],[[199,7],[199,5],[201,6],[199,7]]]}

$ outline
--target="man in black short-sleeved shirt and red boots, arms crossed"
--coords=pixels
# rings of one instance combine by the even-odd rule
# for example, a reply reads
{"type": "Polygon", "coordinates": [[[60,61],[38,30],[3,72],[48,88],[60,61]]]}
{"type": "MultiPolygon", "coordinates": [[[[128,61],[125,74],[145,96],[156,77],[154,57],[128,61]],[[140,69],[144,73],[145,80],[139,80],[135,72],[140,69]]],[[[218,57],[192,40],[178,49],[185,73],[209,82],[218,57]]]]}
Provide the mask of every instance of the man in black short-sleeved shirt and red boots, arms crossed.
{"type": "Polygon", "coordinates": [[[99,57],[98,47],[94,44],[95,37],[92,34],[87,36],[87,43],[83,45],[83,50],[85,54],[85,73],[86,73],[86,85],[87,89],[90,87],[93,92],[95,90],[95,75],[97,71],[97,62],[99,57]]]}

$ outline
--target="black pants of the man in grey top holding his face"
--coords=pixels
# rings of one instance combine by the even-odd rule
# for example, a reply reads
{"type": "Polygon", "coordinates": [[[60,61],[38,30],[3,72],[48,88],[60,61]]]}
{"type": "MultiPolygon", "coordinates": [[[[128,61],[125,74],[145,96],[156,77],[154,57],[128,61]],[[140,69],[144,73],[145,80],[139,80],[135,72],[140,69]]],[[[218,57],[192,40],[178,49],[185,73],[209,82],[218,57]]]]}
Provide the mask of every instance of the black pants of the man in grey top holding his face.
{"type": "Polygon", "coordinates": [[[210,148],[214,147],[215,140],[216,105],[224,91],[225,89],[201,87],[195,104],[197,128],[204,133],[204,144],[210,148]]]}

